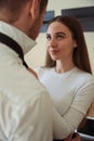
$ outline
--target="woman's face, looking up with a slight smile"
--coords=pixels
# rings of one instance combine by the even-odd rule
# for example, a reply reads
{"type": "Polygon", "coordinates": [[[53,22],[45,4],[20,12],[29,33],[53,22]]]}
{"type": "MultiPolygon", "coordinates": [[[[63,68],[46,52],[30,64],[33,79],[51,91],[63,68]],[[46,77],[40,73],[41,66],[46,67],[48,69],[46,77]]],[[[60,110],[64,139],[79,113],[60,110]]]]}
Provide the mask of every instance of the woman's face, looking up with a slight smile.
{"type": "Polygon", "coordinates": [[[52,23],[46,30],[46,50],[52,60],[72,60],[76,40],[67,26],[59,22],[52,23]]]}

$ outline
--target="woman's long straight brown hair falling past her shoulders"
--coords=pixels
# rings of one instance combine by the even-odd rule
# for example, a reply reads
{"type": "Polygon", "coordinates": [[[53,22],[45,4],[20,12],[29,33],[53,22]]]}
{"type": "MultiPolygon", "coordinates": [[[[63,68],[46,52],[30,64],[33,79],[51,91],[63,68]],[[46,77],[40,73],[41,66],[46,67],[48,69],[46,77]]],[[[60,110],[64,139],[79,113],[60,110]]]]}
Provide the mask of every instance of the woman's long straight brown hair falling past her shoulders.
{"type": "MultiPolygon", "coordinates": [[[[82,29],[82,26],[79,23],[79,21],[72,16],[59,15],[59,16],[52,18],[50,21],[48,27],[50,26],[50,24],[52,24],[54,22],[59,22],[59,23],[64,24],[65,26],[67,26],[72,34],[72,38],[77,41],[77,48],[75,48],[73,55],[72,55],[75,65],[77,67],[79,67],[80,69],[92,74],[88,48],[86,48],[86,43],[85,43],[85,39],[84,39],[84,35],[83,35],[83,29],[82,29]]],[[[45,67],[56,66],[56,62],[51,59],[51,56],[48,52],[46,52],[44,66],[45,67]]]]}

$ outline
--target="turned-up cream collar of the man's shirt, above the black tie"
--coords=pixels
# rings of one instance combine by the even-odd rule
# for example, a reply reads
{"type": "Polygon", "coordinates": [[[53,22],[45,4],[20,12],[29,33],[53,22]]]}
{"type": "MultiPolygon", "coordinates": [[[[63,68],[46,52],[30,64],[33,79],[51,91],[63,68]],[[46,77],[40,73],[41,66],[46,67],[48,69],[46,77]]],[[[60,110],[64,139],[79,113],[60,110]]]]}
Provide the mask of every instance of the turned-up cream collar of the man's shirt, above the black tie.
{"type": "Polygon", "coordinates": [[[37,43],[16,27],[0,21],[0,31],[14,39],[23,49],[24,54],[37,43]]]}

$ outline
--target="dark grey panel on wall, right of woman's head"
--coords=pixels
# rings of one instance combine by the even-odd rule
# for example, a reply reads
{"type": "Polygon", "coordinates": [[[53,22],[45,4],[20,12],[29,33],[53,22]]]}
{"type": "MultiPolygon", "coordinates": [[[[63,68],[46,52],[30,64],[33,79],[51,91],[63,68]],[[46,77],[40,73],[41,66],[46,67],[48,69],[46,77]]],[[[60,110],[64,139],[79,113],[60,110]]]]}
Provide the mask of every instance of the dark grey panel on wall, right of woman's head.
{"type": "Polygon", "coordinates": [[[94,7],[62,10],[62,15],[75,16],[82,24],[83,31],[94,31],[94,7]]]}

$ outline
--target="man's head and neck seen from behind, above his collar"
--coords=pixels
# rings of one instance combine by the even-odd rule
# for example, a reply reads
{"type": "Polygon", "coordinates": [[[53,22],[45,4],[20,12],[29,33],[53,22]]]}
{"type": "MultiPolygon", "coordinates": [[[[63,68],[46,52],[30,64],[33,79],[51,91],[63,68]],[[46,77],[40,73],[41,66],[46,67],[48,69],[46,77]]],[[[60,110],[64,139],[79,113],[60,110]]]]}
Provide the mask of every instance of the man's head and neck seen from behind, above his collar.
{"type": "Polygon", "coordinates": [[[33,25],[36,28],[37,24],[36,38],[42,24],[46,4],[48,0],[0,0],[0,20],[19,28],[30,38],[33,38],[30,33],[33,25]]]}

